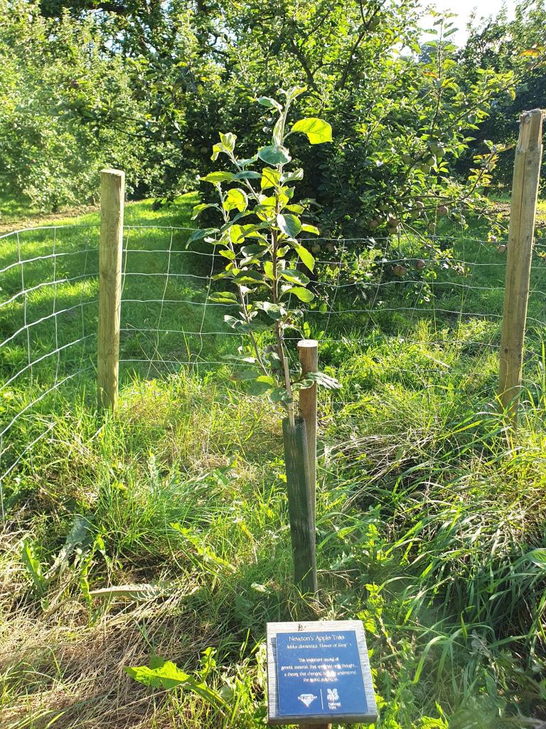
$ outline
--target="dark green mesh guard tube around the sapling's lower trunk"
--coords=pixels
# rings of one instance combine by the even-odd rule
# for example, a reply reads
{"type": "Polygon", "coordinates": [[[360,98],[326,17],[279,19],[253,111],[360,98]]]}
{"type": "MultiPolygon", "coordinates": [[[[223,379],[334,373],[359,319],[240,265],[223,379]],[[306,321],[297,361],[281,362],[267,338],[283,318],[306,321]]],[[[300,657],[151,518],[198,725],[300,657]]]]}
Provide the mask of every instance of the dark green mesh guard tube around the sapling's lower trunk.
{"type": "Polygon", "coordinates": [[[302,593],[317,592],[316,537],[304,418],[282,421],[294,577],[302,593]]]}

